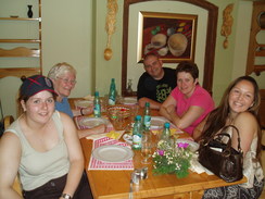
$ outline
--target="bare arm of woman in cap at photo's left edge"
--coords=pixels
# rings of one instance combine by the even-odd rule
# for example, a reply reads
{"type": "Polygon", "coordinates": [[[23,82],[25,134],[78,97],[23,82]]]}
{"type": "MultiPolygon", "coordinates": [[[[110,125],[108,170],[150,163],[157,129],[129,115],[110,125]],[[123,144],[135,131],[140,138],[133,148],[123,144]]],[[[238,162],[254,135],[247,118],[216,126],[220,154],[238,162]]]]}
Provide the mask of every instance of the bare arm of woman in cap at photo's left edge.
{"type": "Polygon", "coordinates": [[[13,189],[21,161],[21,142],[16,135],[5,133],[0,139],[0,199],[18,199],[13,189]]]}

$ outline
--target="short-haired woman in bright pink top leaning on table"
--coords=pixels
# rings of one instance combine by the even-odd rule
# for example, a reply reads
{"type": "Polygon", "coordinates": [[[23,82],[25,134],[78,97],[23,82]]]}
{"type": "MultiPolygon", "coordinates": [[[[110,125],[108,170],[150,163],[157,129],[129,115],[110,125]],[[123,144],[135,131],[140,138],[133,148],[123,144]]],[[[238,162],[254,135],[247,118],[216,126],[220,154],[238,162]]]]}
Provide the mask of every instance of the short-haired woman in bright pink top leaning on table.
{"type": "Polygon", "coordinates": [[[163,102],[160,114],[191,136],[197,125],[214,109],[210,94],[199,85],[195,63],[184,61],[176,69],[177,87],[163,102]]]}

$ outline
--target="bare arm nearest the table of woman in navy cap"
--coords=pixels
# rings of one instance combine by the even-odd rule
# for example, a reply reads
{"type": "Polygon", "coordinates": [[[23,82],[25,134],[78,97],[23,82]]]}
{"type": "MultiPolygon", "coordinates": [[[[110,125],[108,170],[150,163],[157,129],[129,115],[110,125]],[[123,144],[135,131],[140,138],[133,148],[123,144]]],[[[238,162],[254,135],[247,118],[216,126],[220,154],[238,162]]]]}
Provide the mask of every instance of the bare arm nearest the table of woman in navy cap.
{"type": "Polygon", "coordinates": [[[70,172],[63,192],[73,197],[84,172],[84,157],[73,120],[64,113],[60,114],[70,156],[70,172]]]}

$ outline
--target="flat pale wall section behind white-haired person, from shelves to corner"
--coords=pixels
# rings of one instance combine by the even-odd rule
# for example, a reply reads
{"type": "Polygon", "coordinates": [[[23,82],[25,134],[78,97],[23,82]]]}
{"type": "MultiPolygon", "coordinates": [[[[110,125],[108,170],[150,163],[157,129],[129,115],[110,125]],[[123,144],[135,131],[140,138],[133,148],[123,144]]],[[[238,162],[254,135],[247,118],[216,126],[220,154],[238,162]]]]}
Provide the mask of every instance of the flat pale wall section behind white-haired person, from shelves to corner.
{"type": "Polygon", "coordinates": [[[73,96],[94,87],[92,65],[92,1],[42,0],[43,75],[58,62],[77,70],[73,96]]]}

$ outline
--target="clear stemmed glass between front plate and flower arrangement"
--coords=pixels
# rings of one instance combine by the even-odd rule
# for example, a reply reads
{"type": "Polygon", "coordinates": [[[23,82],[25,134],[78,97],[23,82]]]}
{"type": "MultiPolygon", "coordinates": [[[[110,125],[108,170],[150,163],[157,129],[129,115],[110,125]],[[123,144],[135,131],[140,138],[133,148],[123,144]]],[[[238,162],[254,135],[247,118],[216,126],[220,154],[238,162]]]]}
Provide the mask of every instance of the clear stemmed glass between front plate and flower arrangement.
{"type": "Polygon", "coordinates": [[[141,139],[141,156],[143,157],[143,160],[141,163],[149,164],[151,160],[149,159],[152,156],[152,137],[151,132],[143,132],[142,133],[142,139],[141,139]]]}

